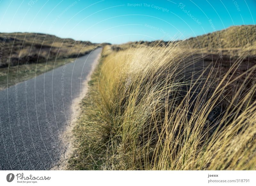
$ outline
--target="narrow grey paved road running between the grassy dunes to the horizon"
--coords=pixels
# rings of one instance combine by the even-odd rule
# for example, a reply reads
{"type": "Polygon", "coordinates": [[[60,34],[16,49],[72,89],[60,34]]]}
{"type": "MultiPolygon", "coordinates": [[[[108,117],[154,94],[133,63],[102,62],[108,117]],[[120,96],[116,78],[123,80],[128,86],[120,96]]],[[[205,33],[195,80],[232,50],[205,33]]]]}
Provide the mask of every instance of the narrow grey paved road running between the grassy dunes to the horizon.
{"type": "Polygon", "coordinates": [[[73,100],[101,48],[75,62],[0,91],[0,169],[48,170],[67,148],[61,134],[74,116],[73,100]]]}

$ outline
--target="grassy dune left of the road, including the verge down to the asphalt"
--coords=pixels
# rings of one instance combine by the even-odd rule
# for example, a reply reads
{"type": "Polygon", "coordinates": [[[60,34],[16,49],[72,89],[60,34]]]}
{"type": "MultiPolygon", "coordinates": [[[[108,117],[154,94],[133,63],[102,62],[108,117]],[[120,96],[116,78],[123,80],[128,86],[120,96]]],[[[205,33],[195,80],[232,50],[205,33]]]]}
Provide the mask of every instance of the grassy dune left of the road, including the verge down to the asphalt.
{"type": "MultiPolygon", "coordinates": [[[[85,55],[99,45],[39,33],[0,33],[0,90],[85,55]]],[[[104,44],[103,44],[104,45],[104,44]]]]}

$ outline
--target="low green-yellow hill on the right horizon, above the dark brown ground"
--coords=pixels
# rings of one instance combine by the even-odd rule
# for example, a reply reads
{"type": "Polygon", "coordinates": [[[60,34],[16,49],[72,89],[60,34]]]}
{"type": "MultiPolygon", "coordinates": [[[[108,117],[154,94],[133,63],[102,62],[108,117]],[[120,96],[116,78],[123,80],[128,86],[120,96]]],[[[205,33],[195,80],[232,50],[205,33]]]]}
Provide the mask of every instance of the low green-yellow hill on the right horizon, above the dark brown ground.
{"type": "MultiPolygon", "coordinates": [[[[138,41],[129,42],[124,45],[146,45],[146,46],[168,46],[173,43],[182,43],[188,45],[190,49],[206,49],[206,50],[232,50],[237,48],[251,47],[256,49],[256,26],[242,25],[232,26],[227,29],[216,31],[206,35],[191,37],[186,40],[179,41],[138,41]]],[[[125,47],[123,47],[125,48],[125,47]]],[[[117,47],[117,50],[120,49],[117,47]]]]}

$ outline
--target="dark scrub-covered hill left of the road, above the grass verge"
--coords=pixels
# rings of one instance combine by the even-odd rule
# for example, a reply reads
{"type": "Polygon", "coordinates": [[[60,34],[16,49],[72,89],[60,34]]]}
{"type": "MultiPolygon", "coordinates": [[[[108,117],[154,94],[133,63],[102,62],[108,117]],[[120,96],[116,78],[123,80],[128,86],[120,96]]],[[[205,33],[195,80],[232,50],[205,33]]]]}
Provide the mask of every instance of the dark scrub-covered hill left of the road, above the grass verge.
{"type": "Polygon", "coordinates": [[[97,44],[89,41],[63,39],[40,33],[0,33],[0,67],[15,66],[68,56],[77,57],[93,50],[97,44]]]}

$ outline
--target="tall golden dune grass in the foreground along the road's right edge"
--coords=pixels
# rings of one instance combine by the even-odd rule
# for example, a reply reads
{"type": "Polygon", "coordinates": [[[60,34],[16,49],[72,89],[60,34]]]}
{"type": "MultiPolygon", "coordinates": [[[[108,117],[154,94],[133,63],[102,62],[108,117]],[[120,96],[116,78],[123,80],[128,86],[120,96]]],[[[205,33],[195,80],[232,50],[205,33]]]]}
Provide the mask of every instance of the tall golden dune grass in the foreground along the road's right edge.
{"type": "Polygon", "coordinates": [[[255,170],[256,65],[244,68],[245,53],[224,71],[183,43],[103,54],[69,169],[255,170]]]}

